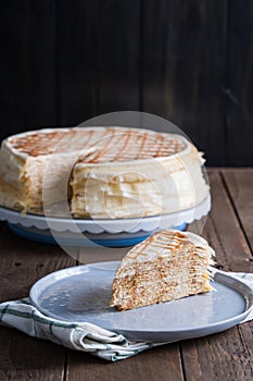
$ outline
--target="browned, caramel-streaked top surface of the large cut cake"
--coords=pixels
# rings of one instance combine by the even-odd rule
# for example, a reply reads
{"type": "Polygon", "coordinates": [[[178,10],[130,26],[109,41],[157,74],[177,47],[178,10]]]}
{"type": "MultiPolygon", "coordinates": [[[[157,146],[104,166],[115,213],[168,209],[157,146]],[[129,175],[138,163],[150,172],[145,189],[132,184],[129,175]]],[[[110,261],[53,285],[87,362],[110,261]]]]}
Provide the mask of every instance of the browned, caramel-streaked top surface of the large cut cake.
{"type": "Polygon", "coordinates": [[[12,136],[8,143],[33,157],[81,151],[78,161],[87,163],[168,157],[187,147],[179,135],[127,127],[40,130],[12,136]]]}

